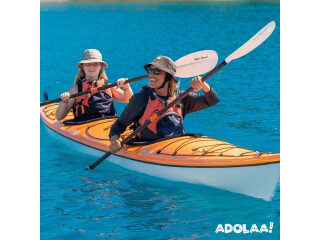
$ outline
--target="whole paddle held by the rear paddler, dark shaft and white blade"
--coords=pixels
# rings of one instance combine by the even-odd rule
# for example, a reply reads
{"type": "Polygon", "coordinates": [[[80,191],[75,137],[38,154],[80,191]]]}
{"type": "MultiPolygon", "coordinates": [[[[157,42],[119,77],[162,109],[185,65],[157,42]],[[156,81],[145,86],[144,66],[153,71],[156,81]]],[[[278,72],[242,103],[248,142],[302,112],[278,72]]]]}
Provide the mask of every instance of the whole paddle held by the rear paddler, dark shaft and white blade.
{"type": "MultiPolygon", "coordinates": [[[[176,77],[181,78],[189,78],[194,77],[203,73],[210,71],[214,66],[216,66],[218,62],[218,55],[213,50],[202,50],[194,53],[190,53],[184,57],[179,58],[175,63],[177,65],[177,72],[175,74],[176,77]]],[[[148,75],[144,75],[141,77],[132,78],[124,81],[125,83],[135,82],[141,79],[147,78],[148,75]]],[[[100,90],[116,87],[117,83],[108,84],[106,86],[91,88],[84,92],[79,92],[75,94],[71,94],[70,98],[79,97],[82,95],[86,95],[89,93],[95,93],[100,90]]],[[[44,101],[40,103],[41,106],[48,105],[50,103],[55,103],[61,101],[61,98],[56,98],[50,101],[44,101]]]]}

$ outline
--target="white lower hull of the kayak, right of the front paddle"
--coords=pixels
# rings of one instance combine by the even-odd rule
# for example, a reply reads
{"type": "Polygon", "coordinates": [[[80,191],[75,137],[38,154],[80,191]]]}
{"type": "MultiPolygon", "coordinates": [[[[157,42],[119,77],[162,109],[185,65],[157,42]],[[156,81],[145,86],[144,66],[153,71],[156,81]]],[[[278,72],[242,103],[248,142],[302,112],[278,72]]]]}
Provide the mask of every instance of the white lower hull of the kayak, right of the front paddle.
{"type": "Polygon", "coordinates": [[[116,155],[109,161],[171,181],[200,184],[270,201],[279,181],[280,163],[248,167],[175,167],[132,161],[116,155]],[[253,181],[255,179],[255,181],[253,181]]]}

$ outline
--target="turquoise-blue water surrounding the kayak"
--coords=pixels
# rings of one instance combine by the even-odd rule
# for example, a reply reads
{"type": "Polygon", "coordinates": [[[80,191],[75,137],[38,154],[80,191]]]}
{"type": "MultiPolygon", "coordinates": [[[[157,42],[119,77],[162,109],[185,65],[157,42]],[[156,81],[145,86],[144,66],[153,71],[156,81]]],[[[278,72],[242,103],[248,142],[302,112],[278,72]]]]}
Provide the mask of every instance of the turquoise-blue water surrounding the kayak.
{"type": "MultiPolygon", "coordinates": [[[[176,60],[212,49],[219,63],[268,22],[270,38],[208,82],[221,101],[187,115],[188,132],[241,147],[280,151],[280,6],[209,3],[41,3],[40,95],[57,98],[73,83],[87,48],[108,62],[110,82],[144,75],[156,55],[176,60]],[[201,120],[200,120],[201,119],[201,120]]],[[[190,79],[181,79],[187,89],[190,79]]],[[[147,80],[132,84],[137,92],[147,80]]],[[[124,104],[116,103],[118,113],[124,104]]],[[[270,203],[207,187],[174,183],[73,152],[41,134],[42,239],[279,239],[280,188],[270,203]],[[273,222],[272,233],[215,233],[218,224],[273,222]]]]}

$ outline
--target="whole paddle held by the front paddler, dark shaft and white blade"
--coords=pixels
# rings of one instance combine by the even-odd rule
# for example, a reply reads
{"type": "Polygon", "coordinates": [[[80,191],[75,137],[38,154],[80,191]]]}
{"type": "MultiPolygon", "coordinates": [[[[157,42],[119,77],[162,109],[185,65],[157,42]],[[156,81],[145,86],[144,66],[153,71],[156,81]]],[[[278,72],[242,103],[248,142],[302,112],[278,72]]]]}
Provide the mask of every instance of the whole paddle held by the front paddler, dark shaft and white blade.
{"type": "MultiPolygon", "coordinates": [[[[232,60],[240,58],[240,57],[248,54],[249,52],[251,52],[255,48],[257,48],[261,43],[263,43],[272,34],[274,29],[275,29],[275,22],[272,21],[269,24],[267,24],[264,28],[262,28],[258,33],[256,33],[251,39],[249,39],[240,48],[238,48],[235,52],[233,52],[231,55],[229,55],[222,63],[220,63],[217,67],[215,67],[209,73],[207,73],[207,75],[205,75],[202,78],[202,82],[206,81],[209,77],[211,77],[213,74],[215,74],[217,71],[219,71],[222,67],[224,67],[226,64],[228,64],[232,60]]],[[[131,138],[133,138],[139,132],[141,132],[144,128],[146,128],[152,121],[159,118],[163,113],[165,113],[174,104],[181,101],[191,91],[192,91],[192,88],[190,87],[182,95],[177,97],[175,100],[173,100],[171,103],[169,103],[166,107],[164,107],[162,110],[160,110],[157,114],[153,115],[150,119],[146,120],[142,125],[140,125],[137,129],[135,129],[129,136],[127,136],[125,139],[123,139],[121,141],[121,146],[126,144],[131,138]]],[[[101,158],[99,158],[92,165],[89,165],[88,168],[86,168],[85,170],[94,169],[103,160],[108,158],[111,154],[112,153],[110,151],[105,153],[101,158]]]]}

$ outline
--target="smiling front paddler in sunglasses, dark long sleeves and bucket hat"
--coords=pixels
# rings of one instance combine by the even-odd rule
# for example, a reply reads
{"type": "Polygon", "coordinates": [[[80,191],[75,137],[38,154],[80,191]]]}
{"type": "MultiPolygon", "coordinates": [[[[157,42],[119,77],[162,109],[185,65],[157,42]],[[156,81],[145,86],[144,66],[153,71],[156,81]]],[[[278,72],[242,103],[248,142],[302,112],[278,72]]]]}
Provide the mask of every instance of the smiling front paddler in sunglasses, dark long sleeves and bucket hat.
{"type": "MultiPolygon", "coordinates": [[[[177,90],[179,82],[174,77],[176,64],[169,57],[158,56],[151,63],[144,65],[144,68],[148,72],[149,86],[144,86],[139,93],[132,96],[129,104],[113,124],[109,134],[112,153],[120,150],[119,136],[131,123],[134,123],[134,128],[139,127],[145,120],[184,93],[184,91],[177,90]]],[[[159,119],[143,129],[137,135],[137,139],[154,141],[184,134],[183,119],[186,114],[217,104],[219,102],[217,93],[201,79],[200,76],[193,78],[190,85],[193,92],[202,89],[204,94],[190,93],[187,95],[181,102],[168,109],[159,119]]]]}

